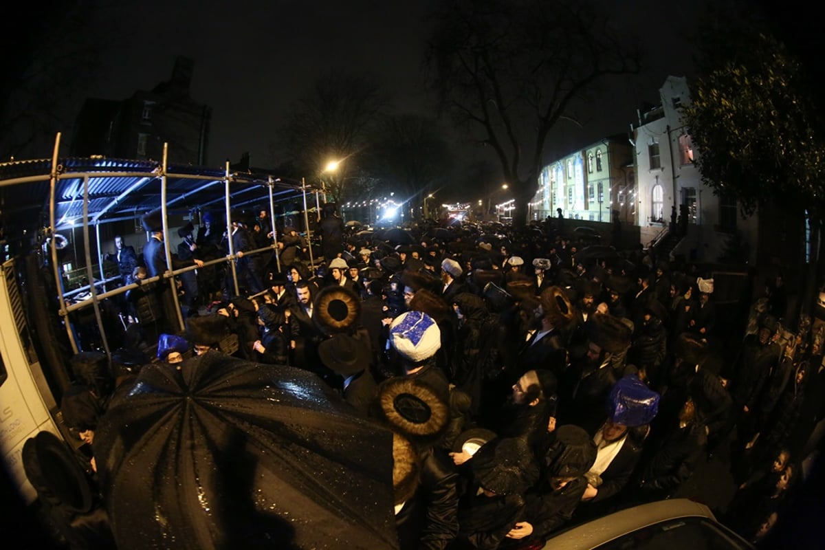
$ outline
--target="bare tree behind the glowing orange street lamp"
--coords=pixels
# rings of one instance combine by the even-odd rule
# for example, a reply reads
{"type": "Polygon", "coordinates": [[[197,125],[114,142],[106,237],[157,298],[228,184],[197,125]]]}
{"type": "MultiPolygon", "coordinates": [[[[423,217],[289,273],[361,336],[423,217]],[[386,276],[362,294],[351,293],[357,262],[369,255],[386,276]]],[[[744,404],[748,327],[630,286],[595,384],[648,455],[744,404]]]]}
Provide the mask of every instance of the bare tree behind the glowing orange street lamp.
{"type": "Polygon", "coordinates": [[[388,105],[374,78],[330,73],[293,106],[281,129],[281,148],[308,183],[323,185],[328,200],[352,196],[370,127],[388,105]],[[341,161],[325,172],[330,161],[341,161]]]}

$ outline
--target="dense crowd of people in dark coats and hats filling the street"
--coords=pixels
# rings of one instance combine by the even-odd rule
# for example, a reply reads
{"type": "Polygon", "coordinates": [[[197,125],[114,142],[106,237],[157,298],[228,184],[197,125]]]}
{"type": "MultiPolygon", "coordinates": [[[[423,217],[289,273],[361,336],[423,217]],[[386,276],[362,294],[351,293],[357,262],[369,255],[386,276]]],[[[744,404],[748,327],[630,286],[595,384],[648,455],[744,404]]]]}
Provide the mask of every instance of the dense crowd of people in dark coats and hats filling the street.
{"type": "MultiPolygon", "coordinates": [[[[206,221],[181,230],[176,261],[202,266],[205,243],[220,246],[206,221]]],[[[643,250],[585,258],[550,222],[396,243],[333,219],[315,265],[295,228],[280,231],[281,270],[243,255],[271,226],[244,225],[229,237],[238,294],[199,269],[182,283],[186,331],[158,322],[177,315],[163,294],[131,299],[153,361],[224,353],[308,370],[393,430],[401,548],[541,548],[571,524],[690,496],[700,460],[723,453],[739,487],[714,511],[761,543],[802,477],[825,417],[825,324],[801,316],[790,330],[780,280],[723,337],[711,274],[643,250]]],[[[162,259],[147,245],[135,277],[162,259]]],[[[92,379],[64,417],[93,448],[111,388],[92,379]]]]}

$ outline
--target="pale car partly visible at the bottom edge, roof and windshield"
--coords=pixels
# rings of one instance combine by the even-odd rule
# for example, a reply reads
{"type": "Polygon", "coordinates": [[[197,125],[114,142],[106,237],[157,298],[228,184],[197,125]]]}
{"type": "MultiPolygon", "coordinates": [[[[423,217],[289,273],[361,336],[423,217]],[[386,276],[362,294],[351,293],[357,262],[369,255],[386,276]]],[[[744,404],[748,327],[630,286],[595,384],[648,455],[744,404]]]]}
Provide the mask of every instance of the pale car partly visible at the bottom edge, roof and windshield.
{"type": "Polygon", "coordinates": [[[710,509],[688,499],[633,506],[565,529],[544,550],[753,550],[720,524],[710,509]]]}

